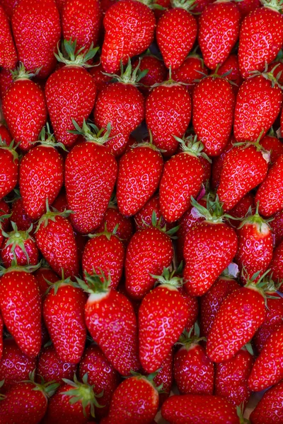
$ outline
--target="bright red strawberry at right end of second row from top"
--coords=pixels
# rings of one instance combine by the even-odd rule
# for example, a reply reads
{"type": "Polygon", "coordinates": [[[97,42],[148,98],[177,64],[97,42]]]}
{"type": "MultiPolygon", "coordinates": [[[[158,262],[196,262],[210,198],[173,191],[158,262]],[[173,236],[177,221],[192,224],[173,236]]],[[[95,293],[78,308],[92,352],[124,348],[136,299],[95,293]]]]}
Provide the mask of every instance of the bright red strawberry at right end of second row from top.
{"type": "Polygon", "coordinates": [[[236,140],[255,142],[265,136],[281,110],[282,100],[272,73],[253,73],[238,90],[233,127],[236,140]]]}

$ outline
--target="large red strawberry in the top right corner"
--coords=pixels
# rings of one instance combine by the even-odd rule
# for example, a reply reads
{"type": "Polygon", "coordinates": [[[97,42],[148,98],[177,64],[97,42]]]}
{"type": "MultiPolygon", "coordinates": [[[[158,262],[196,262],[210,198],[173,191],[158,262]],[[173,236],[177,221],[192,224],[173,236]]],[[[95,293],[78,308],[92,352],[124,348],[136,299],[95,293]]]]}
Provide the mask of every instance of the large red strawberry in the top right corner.
{"type": "Polygon", "coordinates": [[[243,78],[250,71],[263,71],[283,44],[281,3],[261,0],[261,4],[263,7],[255,8],[241,25],[238,59],[243,78]]]}

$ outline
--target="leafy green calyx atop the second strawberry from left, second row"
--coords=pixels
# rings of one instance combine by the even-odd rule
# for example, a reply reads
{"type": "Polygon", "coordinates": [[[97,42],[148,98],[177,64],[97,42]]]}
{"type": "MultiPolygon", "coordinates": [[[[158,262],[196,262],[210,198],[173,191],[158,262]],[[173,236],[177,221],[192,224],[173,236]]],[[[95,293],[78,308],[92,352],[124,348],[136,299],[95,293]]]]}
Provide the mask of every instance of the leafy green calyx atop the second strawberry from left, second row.
{"type": "Polygon", "coordinates": [[[93,43],[91,47],[86,51],[86,47],[81,47],[81,49],[76,49],[76,40],[64,40],[62,42],[62,51],[60,51],[59,46],[57,46],[58,54],[54,53],[57,61],[62,62],[65,65],[70,66],[83,66],[84,68],[91,68],[92,65],[89,65],[87,62],[93,57],[96,56],[99,47],[93,48],[93,43]],[[64,54],[62,53],[64,52],[64,54]]]}

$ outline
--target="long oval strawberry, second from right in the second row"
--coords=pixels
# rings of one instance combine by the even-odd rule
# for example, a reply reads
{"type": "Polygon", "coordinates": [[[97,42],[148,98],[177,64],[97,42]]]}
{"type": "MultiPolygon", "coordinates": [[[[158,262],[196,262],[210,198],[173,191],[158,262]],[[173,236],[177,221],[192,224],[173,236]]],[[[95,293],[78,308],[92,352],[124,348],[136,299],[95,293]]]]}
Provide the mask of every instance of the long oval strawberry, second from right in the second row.
{"type": "Polygon", "coordinates": [[[233,125],[235,101],[233,88],[225,77],[210,75],[195,87],[192,125],[207,155],[218,156],[224,151],[233,125]]]}

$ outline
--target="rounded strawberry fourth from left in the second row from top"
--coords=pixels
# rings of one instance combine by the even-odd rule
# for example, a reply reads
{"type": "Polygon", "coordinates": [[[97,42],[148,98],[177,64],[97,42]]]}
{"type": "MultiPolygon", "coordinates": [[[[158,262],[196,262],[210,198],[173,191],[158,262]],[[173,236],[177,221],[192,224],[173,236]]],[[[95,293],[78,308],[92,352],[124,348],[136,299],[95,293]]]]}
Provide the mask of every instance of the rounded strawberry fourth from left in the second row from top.
{"type": "Polygon", "coordinates": [[[169,78],[154,88],[146,99],[146,125],[153,143],[171,156],[178,148],[176,137],[183,137],[190,124],[192,102],[186,88],[169,78]]]}

